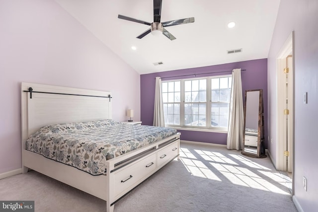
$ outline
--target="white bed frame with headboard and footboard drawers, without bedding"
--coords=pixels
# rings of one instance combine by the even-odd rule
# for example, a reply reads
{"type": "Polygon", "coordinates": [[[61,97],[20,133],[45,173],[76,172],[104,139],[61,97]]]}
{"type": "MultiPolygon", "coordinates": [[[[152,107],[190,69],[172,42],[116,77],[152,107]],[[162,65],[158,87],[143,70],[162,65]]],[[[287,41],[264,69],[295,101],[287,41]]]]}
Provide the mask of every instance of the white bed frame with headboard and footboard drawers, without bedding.
{"type": "Polygon", "coordinates": [[[113,212],[117,201],[179,155],[179,133],[107,160],[106,174],[98,176],[25,149],[28,137],[43,126],[111,119],[111,98],[106,91],[22,82],[22,172],[33,169],[105,200],[106,211],[113,212]]]}

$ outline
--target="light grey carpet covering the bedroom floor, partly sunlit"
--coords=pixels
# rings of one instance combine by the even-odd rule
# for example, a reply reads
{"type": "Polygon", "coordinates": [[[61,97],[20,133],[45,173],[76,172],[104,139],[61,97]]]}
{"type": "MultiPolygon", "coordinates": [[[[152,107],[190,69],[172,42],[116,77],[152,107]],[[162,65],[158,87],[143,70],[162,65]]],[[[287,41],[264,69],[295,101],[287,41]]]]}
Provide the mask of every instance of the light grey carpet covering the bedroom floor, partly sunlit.
{"type": "MultiPolygon", "coordinates": [[[[0,180],[0,200],[34,200],[36,212],[105,212],[105,201],[30,171],[0,180]]],[[[181,143],[175,159],[115,204],[115,212],[297,212],[269,157],[181,143]]]]}

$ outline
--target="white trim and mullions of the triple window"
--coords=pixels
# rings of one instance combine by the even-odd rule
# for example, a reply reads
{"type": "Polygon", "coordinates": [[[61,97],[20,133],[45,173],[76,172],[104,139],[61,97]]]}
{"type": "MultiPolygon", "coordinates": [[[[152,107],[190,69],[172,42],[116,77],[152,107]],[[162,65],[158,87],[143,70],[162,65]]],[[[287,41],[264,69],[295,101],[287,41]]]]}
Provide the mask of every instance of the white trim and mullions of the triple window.
{"type": "MultiPolygon", "coordinates": [[[[230,77],[231,74],[225,75],[215,75],[215,76],[204,76],[204,77],[193,77],[193,78],[185,78],[185,79],[171,79],[171,80],[164,80],[162,82],[171,82],[171,81],[180,81],[180,125],[165,125],[166,127],[174,128],[176,130],[187,130],[187,131],[200,131],[200,132],[212,132],[212,133],[228,133],[228,128],[218,128],[218,127],[196,127],[196,126],[184,126],[184,81],[186,80],[200,80],[200,79],[207,79],[207,81],[211,81],[212,78],[222,78],[222,77],[230,77]]],[[[162,83],[161,82],[161,83],[162,83]]],[[[211,83],[207,83],[207,99],[206,99],[206,123],[211,123],[211,83]]],[[[232,89],[232,87],[231,87],[232,89]]],[[[178,103],[178,102],[175,102],[178,103]]],[[[201,102],[195,102],[201,103],[201,102]]],[[[203,103],[203,102],[202,102],[203,103]]],[[[227,103],[227,102],[215,102],[215,103],[227,103]]],[[[169,104],[169,103],[168,103],[169,104]]]]}

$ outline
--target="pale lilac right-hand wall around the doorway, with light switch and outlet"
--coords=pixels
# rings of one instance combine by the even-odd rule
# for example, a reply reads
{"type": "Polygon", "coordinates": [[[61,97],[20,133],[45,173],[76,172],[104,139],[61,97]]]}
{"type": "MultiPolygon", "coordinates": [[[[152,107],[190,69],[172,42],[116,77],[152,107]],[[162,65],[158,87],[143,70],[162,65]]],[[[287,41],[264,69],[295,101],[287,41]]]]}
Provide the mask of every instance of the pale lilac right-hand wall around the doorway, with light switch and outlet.
{"type": "Polygon", "coordinates": [[[284,42],[295,32],[295,198],[305,212],[318,209],[318,0],[281,0],[268,55],[268,142],[276,160],[276,59],[284,42]],[[308,104],[303,93],[308,92],[308,104]],[[303,176],[308,191],[303,188],[303,176]]]}

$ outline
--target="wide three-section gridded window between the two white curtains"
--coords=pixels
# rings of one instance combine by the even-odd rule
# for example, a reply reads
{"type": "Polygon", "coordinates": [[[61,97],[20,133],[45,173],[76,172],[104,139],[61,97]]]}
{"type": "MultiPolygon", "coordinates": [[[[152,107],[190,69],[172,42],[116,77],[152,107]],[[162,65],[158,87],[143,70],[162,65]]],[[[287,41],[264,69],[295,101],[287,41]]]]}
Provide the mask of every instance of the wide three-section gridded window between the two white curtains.
{"type": "Polygon", "coordinates": [[[226,130],[231,83],[231,76],[162,82],[165,125],[226,130]]]}

